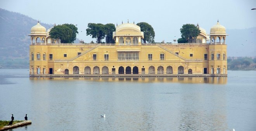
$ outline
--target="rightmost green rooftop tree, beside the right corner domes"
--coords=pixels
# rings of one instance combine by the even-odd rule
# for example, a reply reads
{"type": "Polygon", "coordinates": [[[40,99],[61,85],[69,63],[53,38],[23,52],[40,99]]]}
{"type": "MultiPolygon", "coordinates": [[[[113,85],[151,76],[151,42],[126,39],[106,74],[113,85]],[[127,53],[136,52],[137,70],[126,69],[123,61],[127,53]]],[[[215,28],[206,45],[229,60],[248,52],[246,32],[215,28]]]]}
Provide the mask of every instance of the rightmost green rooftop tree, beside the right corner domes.
{"type": "Polygon", "coordinates": [[[195,43],[196,37],[200,34],[200,30],[199,27],[196,27],[194,24],[185,24],[182,25],[180,34],[181,37],[187,39],[189,43],[195,43]]]}

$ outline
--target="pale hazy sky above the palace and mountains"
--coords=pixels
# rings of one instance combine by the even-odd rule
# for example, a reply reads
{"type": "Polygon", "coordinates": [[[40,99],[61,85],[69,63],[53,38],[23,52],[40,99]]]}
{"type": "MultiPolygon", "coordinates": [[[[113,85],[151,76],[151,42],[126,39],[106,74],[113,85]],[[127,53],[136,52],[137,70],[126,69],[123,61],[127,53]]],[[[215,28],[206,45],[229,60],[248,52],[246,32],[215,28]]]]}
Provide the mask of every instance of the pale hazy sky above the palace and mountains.
{"type": "Polygon", "coordinates": [[[85,42],[95,42],[86,36],[88,23],[120,25],[128,19],[152,25],[156,42],[180,38],[183,24],[198,23],[208,34],[218,19],[226,29],[256,27],[256,0],[0,0],[0,8],[45,24],[77,24],[77,38],[85,42]]]}

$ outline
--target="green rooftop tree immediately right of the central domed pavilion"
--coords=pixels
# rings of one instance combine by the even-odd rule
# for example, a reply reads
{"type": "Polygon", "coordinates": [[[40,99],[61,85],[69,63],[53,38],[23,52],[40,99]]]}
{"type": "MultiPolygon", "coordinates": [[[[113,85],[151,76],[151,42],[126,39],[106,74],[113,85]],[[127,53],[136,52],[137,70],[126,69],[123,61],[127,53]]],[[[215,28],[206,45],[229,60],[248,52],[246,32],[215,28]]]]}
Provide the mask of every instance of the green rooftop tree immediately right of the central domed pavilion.
{"type": "Polygon", "coordinates": [[[137,25],[140,27],[140,30],[144,32],[144,39],[142,39],[143,42],[154,43],[155,32],[152,26],[146,22],[140,22],[137,23],[137,25]]]}

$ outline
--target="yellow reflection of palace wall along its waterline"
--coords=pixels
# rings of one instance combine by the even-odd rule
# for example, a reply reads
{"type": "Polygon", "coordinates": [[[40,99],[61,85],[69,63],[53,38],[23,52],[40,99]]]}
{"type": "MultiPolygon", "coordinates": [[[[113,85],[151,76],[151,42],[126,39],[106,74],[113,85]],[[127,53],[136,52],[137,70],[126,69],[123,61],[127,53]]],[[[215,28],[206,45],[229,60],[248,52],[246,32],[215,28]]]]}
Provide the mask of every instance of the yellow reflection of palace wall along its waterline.
{"type": "Polygon", "coordinates": [[[227,84],[227,77],[30,77],[31,80],[86,80],[108,82],[178,82],[178,83],[209,83],[227,84]]]}

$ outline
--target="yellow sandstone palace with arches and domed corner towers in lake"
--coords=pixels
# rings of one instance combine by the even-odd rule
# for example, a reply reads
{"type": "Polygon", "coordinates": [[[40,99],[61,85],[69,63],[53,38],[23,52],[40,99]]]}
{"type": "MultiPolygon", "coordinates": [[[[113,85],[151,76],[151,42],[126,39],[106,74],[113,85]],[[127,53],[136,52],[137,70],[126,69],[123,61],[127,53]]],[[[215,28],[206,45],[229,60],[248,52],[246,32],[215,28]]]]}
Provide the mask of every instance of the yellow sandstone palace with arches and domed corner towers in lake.
{"type": "MultiPolygon", "coordinates": [[[[197,25],[198,26],[198,25],[197,25]]],[[[37,76],[227,76],[226,29],[219,22],[196,43],[142,44],[135,24],[113,32],[115,44],[62,44],[50,29],[31,28],[29,74],[37,76]],[[207,43],[207,41],[210,41],[207,43]]]]}

